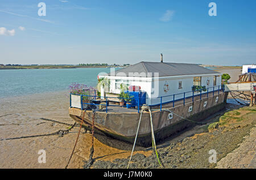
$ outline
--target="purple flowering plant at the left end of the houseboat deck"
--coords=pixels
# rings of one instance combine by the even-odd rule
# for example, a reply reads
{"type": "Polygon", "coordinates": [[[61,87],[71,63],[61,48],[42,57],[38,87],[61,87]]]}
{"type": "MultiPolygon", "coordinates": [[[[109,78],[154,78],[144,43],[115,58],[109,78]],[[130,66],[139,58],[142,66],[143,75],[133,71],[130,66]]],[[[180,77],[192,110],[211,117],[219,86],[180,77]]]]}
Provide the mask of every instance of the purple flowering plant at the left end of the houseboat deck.
{"type": "Polygon", "coordinates": [[[88,87],[87,85],[80,84],[80,83],[71,83],[68,89],[69,89],[69,93],[72,93],[75,95],[87,95],[82,97],[82,100],[85,100],[85,101],[91,100],[96,91],[96,88],[92,86],[88,87]]]}

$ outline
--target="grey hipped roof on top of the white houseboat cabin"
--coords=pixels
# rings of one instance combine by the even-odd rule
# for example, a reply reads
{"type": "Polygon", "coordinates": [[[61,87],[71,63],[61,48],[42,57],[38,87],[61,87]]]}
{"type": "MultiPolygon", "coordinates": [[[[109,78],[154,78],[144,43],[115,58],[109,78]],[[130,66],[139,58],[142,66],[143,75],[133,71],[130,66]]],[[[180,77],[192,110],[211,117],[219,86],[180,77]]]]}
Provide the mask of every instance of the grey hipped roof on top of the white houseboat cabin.
{"type": "Polygon", "coordinates": [[[125,67],[115,71],[115,75],[110,76],[134,76],[134,77],[154,77],[154,72],[163,76],[182,76],[182,75],[199,75],[199,74],[220,74],[219,72],[209,70],[196,64],[188,63],[168,63],[168,62],[139,62],[130,67],[125,67]],[[148,74],[151,72],[152,75],[148,74]],[[129,74],[130,73],[130,74],[129,74]],[[133,74],[133,75],[131,75],[133,74]]]}

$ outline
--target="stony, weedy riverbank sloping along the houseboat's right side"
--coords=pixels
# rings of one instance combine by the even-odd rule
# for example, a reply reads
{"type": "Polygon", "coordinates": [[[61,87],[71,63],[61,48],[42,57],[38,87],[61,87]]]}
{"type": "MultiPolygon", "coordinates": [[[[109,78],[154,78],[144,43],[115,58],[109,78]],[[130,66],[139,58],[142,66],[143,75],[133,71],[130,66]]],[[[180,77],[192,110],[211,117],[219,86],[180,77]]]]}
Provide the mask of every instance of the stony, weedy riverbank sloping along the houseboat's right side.
{"type": "MultiPolygon", "coordinates": [[[[158,149],[162,166],[151,156],[137,154],[132,158],[131,168],[256,168],[255,123],[256,107],[232,110],[220,117],[219,122],[208,126],[209,132],[184,138],[168,147],[158,149]],[[250,133],[251,132],[251,133],[250,133]],[[248,142],[243,142],[247,138],[248,142]],[[250,144],[254,143],[254,144],[250,144]],[[243,145],[243,144],[247,144],[243,145]],[[249,144],[249,145],[248,145],[249,144]],[[209,151],[217,152],[217,164],[209,163],[209,151]],[[243,149],[243,150],[241,150],[243,149]],[[232,152],[234,150],[234,152],[232,152]],[[246,153],[244,153],[246,152],[246,153]],[[240,153],[236,157],[229,153],[240,153]],[[227,156],[228,155],[228,156],[227,156]],[[229,157],[232,156],[230,159],[229,157]],[[240,161],[241,159],[246,161],[240,161]],[[238,162],[232,164],[232,162],[238,162]],[[217,166],[216,166],[217,165],[217,166]]],[[[114,161],[97,161],[93,168],[126,168],[129,157],[114,161]]]]}

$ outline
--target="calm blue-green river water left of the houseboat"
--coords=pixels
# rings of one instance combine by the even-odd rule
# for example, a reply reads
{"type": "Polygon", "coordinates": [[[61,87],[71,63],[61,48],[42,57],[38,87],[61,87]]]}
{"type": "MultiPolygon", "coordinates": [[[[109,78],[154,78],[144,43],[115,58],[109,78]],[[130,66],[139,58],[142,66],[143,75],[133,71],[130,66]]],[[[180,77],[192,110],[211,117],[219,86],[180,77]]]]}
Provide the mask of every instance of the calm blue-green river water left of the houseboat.
{"type": "Polygon", "coordinates": [[[0,98],[64,91],[73,82],[95,87],[100,72],[110,68],[0,70],[0,98]]]}

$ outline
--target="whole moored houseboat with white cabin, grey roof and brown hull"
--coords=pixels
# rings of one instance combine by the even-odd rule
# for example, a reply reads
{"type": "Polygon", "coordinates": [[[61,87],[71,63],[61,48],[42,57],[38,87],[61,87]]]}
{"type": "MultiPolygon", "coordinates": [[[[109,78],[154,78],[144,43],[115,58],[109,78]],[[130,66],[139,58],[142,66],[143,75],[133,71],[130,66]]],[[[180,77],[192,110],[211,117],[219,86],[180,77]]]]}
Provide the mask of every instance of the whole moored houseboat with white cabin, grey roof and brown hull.
{"type": "Polygon", "coordinates": [[[101,95],[85,102],[84,95],[71,94],[69,115],[79,123],[84,115],[83,126],[90,129],[89,106],[94,106],[95,132],[130,143],[141,118],[137,144],[143,147],[152,143],[150,115],[158,142],[220,111],[227,97],[220,73],[196,64],[163,62],[162,56],[160,62],[139,62],[98,78],[108,82],[101,95]]]}

